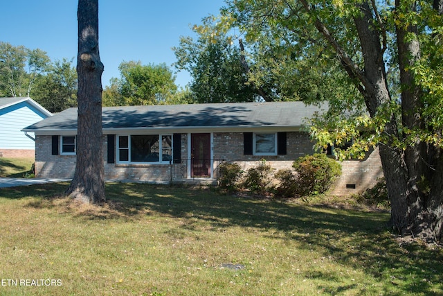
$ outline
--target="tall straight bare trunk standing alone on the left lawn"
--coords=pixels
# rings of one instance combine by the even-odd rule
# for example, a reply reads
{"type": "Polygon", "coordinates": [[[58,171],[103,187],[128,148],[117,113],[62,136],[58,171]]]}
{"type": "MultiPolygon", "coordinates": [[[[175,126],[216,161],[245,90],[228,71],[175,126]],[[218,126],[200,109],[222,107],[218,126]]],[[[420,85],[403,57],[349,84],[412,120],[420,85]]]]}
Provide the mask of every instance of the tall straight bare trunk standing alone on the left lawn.
{"type": "Polygon", "coordinates": [[[105,201],[102,159],[102,72],[98,0],[78,1],[77,164],[67,193],[82,202],[105,201]]]}

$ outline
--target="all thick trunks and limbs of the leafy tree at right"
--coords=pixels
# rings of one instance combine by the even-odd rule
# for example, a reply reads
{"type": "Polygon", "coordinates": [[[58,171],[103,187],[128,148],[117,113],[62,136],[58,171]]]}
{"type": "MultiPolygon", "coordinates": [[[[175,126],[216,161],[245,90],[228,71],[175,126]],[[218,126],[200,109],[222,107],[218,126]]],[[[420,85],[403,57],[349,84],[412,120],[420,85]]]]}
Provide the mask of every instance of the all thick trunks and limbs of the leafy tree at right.
{"type": "MultiPolygon", "coordinates": [[[[314,10],[307,0],[299,0],[307,12],[314,10]]],[[[381,36],[383,26],[374,26],[381,19],[374,11],[374,2],[363,1],[357,4],[360,14],[354,17],[356,31],[359,34],[364,69],[361,70],[334,40],[314,13],[314,24],[325,40],[334,48],[343,67],[351,78],[359,79],[359,90],[365,98],[371,117],[377,115],[379,107],[392,102],[388,90],[381,36]]],[[[401,0],[396,1],[400,8],[401,0]]],[[[443,0],[435,0],[434,8],[443,13],[443,0]]],[[[405,9],[404,6],[401,9],[405,9]]],[[[406,8],[415,10],[414,4],[406,8]]],[[[397,11],[397,13],[400,13],[397,11]]],[[[432,241],[442,240],[443,229],[443,151],[441,148],[426,145],[422,141],[408,142],[406,150],[396,148],[395,141],[405,139],[399,132],[399,125],[406,128],[425,128],[422,119],[422,89],[415,84],[415,77],[410,66],[419,58],[420,44],[417,28],[404,26],[399,19],[397,27],[397,48],[401,79],[401,123],[397,122],[394,112],[388,115],[383,127],[386,143],[380,144],[380,157],[386,186],[391,201],[391,223],[400,234],[412,234],[432,241]]],[[[441,131],[440,131],[441,132],[441,131]]]]}

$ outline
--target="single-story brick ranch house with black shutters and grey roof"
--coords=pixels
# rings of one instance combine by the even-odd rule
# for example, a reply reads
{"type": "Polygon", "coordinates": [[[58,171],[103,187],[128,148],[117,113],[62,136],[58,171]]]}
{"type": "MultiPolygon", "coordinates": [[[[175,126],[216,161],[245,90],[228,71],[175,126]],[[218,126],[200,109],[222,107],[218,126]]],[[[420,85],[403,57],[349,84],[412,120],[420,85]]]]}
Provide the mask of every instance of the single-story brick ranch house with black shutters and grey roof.
{"type": "MultiPolygon", "coordinates": [[[[216,180],[221,162],[244,170],[262,159],[275,169],[314,153],[306,119],[327,107],[302,102],[103,107],[103,161],[108,180],[216,180]]],[[[25,128],[35,132],[37,177],[73,177],[77,109],[25,128]]],[[[336,194],[361,191],[381,176],[378,150],[343,163],[336,194]]]]}

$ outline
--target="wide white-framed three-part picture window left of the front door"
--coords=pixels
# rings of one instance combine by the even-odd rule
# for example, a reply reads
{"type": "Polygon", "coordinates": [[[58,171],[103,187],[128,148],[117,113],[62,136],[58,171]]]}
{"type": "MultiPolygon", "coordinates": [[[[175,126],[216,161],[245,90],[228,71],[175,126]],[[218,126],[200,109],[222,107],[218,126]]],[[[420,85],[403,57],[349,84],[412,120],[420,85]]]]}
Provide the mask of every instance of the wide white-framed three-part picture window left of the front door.
{"type": "Polygon", "coordinates": [[[172,134],[125,134],[117,141],[120,164],[169,164],[172,160],[172,134]]]}

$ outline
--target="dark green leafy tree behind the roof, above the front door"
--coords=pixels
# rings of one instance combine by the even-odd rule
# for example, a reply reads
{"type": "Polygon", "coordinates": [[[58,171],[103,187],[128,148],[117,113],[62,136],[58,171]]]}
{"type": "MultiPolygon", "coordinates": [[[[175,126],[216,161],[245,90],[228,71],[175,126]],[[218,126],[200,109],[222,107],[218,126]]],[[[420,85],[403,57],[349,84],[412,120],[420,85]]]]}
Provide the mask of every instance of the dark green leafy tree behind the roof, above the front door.
{"type": "Polygon", "coordinates": [[[197,41],[181,37],[174,47],[175,67],[190,72],[195,103],[250,102],[257,99],[241,64],[242,53],[224,36],[201,33],[197,41]]]}

